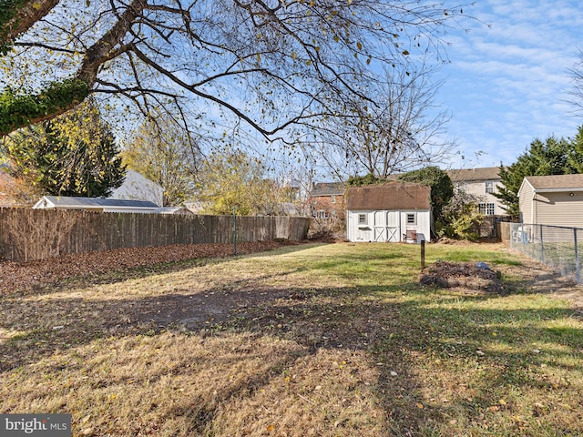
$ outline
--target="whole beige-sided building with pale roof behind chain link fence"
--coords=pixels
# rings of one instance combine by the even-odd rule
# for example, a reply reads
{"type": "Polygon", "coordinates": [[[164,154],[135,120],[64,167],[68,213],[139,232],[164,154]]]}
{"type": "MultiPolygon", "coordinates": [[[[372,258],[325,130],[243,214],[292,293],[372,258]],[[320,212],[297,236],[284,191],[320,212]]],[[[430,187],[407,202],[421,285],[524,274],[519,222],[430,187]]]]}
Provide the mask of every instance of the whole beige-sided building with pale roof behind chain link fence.
{"type": "Polygon", "coordinates": [[[528,176],[518,205],[522,223],[583,228],[583,175],[528,176]]]}

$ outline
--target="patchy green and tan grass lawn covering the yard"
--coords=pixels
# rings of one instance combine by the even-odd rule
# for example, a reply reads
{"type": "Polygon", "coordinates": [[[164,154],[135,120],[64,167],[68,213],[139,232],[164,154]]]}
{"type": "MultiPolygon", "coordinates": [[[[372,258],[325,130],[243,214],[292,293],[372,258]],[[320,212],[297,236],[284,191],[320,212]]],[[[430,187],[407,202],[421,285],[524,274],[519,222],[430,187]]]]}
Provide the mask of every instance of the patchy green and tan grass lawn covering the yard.
{"type": "Polygon", "coordinates": [[[419,246],[302,245],[0,298],[0,412],[74,435],[583,435],[583,331],[498,245],[505,295],[418,284],[419,246]],[[507,268],[513,268],[513,273],[507,268]]]}

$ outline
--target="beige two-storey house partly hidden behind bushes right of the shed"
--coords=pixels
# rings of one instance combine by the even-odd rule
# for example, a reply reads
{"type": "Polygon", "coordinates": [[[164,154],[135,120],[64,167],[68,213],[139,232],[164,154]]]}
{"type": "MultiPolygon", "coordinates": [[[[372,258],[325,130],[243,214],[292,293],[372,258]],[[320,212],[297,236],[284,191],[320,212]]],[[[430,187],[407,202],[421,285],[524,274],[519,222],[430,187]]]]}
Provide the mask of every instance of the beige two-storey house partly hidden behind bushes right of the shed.
{"type": "Polygon", "coordinates": [[[500,184],[498,172],[500,168],[467,168],[448,170],[447,174],[452,179],[454,187],[465,191],[478,198],[480,212],[485,216],[502,216],[506,209],[499,198],[493,193],[500,184]]]}

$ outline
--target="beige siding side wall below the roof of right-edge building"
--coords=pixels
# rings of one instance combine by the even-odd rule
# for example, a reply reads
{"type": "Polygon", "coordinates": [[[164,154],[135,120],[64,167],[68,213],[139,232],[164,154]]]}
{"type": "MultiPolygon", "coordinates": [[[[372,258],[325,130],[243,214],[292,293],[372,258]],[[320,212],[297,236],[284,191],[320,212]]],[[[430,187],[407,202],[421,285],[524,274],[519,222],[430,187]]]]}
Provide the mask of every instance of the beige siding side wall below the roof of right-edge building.
{"type": "Polygon", "coordinates": [[[542,225],[583,227],[583,191],[537,193],[535,222],[542,225]]]}

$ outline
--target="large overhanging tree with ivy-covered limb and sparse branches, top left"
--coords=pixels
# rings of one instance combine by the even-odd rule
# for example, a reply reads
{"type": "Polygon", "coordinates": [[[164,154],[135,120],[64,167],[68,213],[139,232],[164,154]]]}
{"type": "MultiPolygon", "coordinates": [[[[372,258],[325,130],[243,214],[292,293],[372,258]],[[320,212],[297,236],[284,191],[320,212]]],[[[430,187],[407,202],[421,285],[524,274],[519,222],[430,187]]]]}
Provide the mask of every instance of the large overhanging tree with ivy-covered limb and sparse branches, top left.
{"type": "Polygon", "coordinates": [[[0,135],[93,94],[292,141],[292,126],[346,117],[343,102],[374,107],[378,72],[439,57],[463,14],[416,0],[8,0],[0,135]]]}

